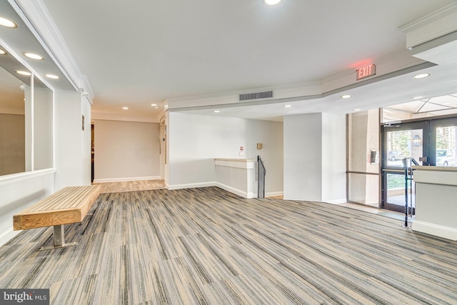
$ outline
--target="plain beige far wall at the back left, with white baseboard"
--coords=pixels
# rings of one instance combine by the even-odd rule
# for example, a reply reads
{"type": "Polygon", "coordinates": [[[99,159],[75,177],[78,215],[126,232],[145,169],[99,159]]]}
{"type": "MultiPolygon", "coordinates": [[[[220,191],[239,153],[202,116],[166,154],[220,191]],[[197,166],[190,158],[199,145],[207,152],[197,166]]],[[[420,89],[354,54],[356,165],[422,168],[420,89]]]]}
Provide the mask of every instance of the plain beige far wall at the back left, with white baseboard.
{"type": "Polygon", "coordinates": [[[160,179],[158,123],[94,120],[94,182],[160,179]]]}

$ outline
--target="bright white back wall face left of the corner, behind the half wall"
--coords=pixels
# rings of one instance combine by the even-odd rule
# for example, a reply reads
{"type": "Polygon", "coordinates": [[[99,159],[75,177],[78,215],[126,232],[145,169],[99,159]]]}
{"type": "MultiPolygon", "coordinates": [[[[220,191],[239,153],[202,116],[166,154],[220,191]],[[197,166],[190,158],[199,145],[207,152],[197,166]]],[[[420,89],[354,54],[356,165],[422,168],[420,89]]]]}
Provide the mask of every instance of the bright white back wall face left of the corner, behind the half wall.
{"type": "MultiPolygon", "coordinates": [[[[213,185],[214,158],[240,158],[246,146],[246,120],[218,116],[169,113],[170,188],[213,185]]],[[[247,148],[245,152],[246,158],[247,148]]]]}

